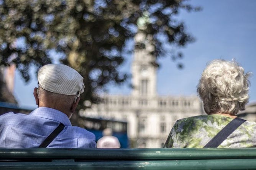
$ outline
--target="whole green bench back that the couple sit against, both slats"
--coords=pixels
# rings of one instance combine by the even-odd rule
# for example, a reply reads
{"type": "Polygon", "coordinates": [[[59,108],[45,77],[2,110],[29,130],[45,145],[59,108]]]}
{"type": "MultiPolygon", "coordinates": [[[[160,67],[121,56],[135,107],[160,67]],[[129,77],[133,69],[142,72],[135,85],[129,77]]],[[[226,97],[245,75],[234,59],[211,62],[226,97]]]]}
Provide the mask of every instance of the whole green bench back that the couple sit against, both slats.
{"type": "Polygon", "coordinates": [[[256,148],[0,148],[0,170],[255,170],[256,148]]]}

